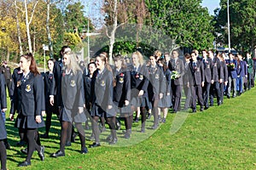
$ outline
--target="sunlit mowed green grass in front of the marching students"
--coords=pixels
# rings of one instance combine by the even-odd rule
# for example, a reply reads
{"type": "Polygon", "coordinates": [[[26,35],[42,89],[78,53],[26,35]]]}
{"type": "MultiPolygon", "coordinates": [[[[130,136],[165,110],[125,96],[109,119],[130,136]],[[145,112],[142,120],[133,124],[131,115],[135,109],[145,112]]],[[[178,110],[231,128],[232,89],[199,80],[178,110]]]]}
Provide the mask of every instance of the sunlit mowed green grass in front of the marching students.
{"type": "MultiPolygon", "coordinates": [[[[59,122],[53,117],[50,139],[41,139],[45,146],[45,161],[38,154],[32,156],[32,166],[17,167],[26,156],[21,147],[14,122],[6,122],[9,143],[7,166],[11,169],[256,169],[256,88],[236,99],[224,99],[224,105],[213,106],[195,114],[178,112],[168,114],[166,123],[157,130],[149,127],[139,133],[140,123],[133,124],[131,139],[122,138],[114,146],[104,140],[109,131],[102,133],[102,146],[79,153],[80,144],[66,147],[66,156],[50,157],[59,149],[59,122]]],[[[7,114],[8,116],[9,114],[7,114]]],[[[122,129],[124,129],[122,125],[122,129]]],[[[44,128],[39,130],[44,133],[44,128]]],[[[86,131],[86,145],[91,131],[86,131]]]]}

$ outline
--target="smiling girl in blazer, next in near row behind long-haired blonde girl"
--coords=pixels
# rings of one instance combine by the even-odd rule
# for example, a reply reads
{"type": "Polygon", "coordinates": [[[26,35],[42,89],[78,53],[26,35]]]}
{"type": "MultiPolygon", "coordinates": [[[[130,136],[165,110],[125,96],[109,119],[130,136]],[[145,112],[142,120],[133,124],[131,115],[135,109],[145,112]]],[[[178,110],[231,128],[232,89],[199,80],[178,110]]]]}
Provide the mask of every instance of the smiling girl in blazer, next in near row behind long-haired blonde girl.
{"type": "Polygon", "coordinates": [[[99,118],[105,116],[111,135],[108,136],[109,144],[116,144],[117,136],[115,131],[116,111],[113,107],[113,74],[112,69],[107,63],[105,55],[96,56],[97,70],[94,72],[91,81],[91,111],[92,132],[96,142],[90,144],[90,148],[100,146],[100,129],[98,127],[99,118]]]}

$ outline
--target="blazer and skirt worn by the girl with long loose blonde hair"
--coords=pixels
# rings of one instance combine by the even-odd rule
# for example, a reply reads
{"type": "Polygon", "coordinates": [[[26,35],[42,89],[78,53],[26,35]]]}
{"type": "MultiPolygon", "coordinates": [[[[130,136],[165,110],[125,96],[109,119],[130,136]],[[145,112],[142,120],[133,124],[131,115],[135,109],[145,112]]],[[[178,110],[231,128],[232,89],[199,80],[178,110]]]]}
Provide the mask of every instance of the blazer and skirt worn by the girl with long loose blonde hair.
{"type": "Polygon", "coordinates": [[[79,107],[84,107],[84,84],[81,71],[64,72],[61,78],[61,117],[64,122],[85,122],[84,113],[79,113],[79,107]]]}

